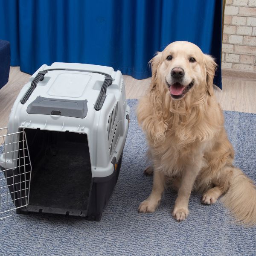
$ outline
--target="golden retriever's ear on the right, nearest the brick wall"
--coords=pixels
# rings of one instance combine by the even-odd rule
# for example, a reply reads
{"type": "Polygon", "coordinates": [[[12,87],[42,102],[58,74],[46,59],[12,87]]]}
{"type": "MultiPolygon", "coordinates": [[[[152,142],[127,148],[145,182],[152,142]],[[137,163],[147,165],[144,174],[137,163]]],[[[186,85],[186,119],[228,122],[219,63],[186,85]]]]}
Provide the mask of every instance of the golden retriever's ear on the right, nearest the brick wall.
{"type": "Polygon", "coordinates": [[[217,64],[214,61],[214,58],[212,56],[205,54],[205,69],[206,69],[206,87],[207,92],[210,96],[213,95],[213,78],[215,75],[215,70],[217,68],[217,64]]]}

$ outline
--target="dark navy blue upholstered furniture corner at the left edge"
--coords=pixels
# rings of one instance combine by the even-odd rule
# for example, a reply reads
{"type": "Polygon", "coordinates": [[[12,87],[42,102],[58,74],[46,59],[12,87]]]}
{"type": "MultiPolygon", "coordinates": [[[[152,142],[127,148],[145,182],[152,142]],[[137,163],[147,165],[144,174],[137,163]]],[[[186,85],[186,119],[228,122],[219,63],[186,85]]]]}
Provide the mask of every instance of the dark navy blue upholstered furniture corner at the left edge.
{"type": "Polygon", "coordinates": [[[0,40],[0,89],[8,82],[11,50],[8,41],[0,40]]]}

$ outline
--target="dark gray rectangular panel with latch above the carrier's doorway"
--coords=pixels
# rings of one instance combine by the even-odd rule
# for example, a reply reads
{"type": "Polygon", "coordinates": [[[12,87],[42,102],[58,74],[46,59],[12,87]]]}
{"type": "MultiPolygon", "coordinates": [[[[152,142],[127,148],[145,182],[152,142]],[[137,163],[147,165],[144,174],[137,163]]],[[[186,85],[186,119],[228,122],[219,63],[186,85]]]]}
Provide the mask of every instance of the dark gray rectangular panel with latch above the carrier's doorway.
{"type": "Polygon", "coordinates": [[[84,118],[87,115],[87,100],[52,99],[38,96],[27,107],[27,113],[84,118]]]}

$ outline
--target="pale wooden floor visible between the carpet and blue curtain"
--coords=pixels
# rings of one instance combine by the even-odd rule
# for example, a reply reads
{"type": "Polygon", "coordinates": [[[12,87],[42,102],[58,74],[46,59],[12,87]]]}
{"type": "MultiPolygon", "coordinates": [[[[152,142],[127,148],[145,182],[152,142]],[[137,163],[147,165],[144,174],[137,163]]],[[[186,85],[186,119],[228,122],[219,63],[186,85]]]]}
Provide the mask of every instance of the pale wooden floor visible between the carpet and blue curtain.
{"type": "MultiPolygon", "coordinates": [[[[0,90],[0,128],[7,125],[17,94],[29,78],[19,67],[11,67],[9,82],[0,90]]],[[[124,79],[128,99],[143,96],[151,80],[136,80],[131,76],[124,79]]],[[[256,73],[223,70],[222,84],[222,91],[215,87],[215,95],[224,110],[256,113],[256,73]]]]}

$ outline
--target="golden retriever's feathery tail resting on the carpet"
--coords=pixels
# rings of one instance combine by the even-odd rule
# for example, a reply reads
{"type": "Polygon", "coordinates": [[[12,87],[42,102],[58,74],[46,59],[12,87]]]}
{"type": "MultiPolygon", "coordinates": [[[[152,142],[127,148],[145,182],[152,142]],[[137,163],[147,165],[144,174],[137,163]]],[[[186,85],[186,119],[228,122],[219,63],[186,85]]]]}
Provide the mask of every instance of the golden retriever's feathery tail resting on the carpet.
{"type": "Polygon", "coordinates": [[[239,223],[256,225],[256,186],[240,169],[233,168],[230,186],[222,201],[239,223]]]}

